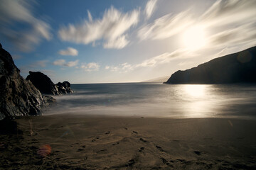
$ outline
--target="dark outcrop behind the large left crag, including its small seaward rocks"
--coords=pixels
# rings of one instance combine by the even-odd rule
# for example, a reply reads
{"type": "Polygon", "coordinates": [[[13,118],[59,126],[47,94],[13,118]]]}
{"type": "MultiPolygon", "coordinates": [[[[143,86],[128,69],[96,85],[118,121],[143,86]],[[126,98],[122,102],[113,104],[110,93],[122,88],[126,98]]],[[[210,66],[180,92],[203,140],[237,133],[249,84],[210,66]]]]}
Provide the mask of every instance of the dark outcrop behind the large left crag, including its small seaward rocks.
{"type": "Polygon", "coordinates": [[[73,90],[70,88],[70,83],[68,81],[54,84],[46,74],[41,72],[29,72],[26,80],[31,81],[42,94],[73,94],[73,90]]]}

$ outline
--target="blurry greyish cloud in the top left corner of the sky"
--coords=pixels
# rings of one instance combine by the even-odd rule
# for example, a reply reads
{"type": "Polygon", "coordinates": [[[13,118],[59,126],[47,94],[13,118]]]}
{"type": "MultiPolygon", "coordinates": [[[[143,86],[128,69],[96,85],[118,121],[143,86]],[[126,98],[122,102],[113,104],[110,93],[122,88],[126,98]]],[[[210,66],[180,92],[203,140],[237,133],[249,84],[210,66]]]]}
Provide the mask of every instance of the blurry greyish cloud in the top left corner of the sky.
{"type": "Polygon", "coordinates": [[[28,2],[2,0],[0,4],[0,33],[23,52],[33,50],[42,39],[50,40],[52,37],[48,23],[33,16],[28,2]],[[16,24],[28,28],[16,30],[16,24]]]}

